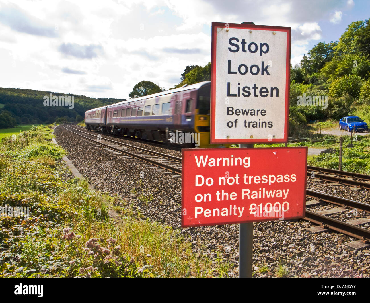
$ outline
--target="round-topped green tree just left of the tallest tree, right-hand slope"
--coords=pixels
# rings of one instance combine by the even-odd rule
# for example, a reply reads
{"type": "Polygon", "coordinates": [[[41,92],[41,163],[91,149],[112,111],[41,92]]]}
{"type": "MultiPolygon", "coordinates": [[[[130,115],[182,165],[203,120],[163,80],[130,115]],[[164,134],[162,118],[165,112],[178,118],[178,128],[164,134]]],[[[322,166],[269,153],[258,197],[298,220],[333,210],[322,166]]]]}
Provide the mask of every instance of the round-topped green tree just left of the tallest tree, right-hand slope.
{"type": "Polygon", "coordinates": [[[334,57],[334,47],[337,46],[337,42],[317,43],[310,51],[308,51],[308,56],[304,55],[301,60],[301,66],[303,73],[307,76],[312,73],[316,73],[327,61],[332,60],[334,57]]]}

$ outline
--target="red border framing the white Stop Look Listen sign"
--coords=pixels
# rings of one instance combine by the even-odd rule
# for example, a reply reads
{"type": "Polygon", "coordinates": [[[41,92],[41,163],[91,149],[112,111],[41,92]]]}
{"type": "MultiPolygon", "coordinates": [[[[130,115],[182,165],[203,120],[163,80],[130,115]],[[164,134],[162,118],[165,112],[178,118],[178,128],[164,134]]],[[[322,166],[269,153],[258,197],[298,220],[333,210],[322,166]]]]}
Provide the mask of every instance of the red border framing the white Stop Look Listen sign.
{"type": "Polygon", "coordinates": [[[228,143],[287,143],[288,141],[288,126],[289,126],[289,93],[290,93],[290,43],[292,36],[291,27],[283,26],[267,26],[253,24],[238,24],[238,23],[221,23],[212,22],[212,55],[211,55],[211,136],[209,137],[211,144],[228,144],[228,143]],[[229,24],[231,29],[253,29],[253,30],[272,30],[285,31],[286,39],[286,88],[285,88],[285,127],[284,138],[282,139],[216,139],[216,31],[218,28],[225,28],[229,24]]]}

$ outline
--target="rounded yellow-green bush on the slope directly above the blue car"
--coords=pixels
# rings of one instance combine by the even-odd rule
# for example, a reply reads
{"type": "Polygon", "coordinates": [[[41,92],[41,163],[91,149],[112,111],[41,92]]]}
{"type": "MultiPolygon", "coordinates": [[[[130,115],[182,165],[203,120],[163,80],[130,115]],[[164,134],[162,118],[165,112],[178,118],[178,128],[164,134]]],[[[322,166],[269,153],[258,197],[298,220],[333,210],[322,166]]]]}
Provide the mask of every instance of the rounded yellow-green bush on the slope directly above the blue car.
{"type": "Polygon", "coordinates": [[[357,98],[360,94],[362,80],[356,75],[344,75],[333,81],[329,88],[329,93],[334,98],[339,98],[343,94],[357,98]]]}

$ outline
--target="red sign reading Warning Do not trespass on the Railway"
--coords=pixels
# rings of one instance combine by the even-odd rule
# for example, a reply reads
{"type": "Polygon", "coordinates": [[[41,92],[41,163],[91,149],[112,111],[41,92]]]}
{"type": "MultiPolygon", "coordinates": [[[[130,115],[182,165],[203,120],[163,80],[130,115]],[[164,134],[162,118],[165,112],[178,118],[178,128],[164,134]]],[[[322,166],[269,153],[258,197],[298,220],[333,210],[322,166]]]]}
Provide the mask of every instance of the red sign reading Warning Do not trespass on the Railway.
{"type": "Polygon", "coordinates": [[[305,216],[307,147],[182,150],[181,226],[305,216]]]}

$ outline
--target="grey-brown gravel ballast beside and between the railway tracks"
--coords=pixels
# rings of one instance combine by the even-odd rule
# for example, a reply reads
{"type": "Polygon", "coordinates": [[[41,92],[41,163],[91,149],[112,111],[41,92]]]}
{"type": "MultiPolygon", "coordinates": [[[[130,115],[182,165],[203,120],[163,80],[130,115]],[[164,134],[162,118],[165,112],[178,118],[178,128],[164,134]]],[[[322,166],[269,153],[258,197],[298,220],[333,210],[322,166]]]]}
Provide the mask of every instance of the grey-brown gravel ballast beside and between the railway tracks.
{"type": "MultiPolygon", "coordinates": [[[[157,172],[147,163],[114,154],[80,139],[59,126],[56,140],[68,151],[68,158],[97,190],[118,194],[132,213],[181,229],[181,178],[157,172]]],[[[181,156],[179,152],[145,143],[132,143],[162,153],[181,156]]],[[[353,190],[307,178],[307,189],[370,203],[368,190],[353,190]]],[[[315,210],[336,207],[323,203],[315,210]]],[[[311,208],[314,209],[314,208],[311,208]]],[[[366,214],[343,212],[343,220],[366,214]],[[351,217],[348,217],[351,216],[351,217]]],[[[333,217],[336,217],[333,215],[333,217]]],[[[253,223],[253,272],[256,277],[275,277],[284,267],[288,277],[367,277],[370,274],[370,249],[353,250],[346,243],[354,241],[336,232],[313,234],[314,226],[303,220],[253,223]],[[265,270],[263,270],[265,269],[265,270]]],[[[194,254],[206,255],[216,262],[217,252],[231,263],[229,276],[238,276],[238,225],[195,227],[184,233],[194,254]]]]}

